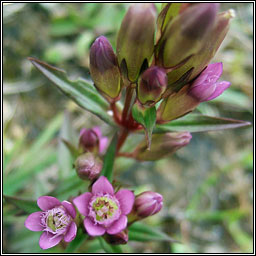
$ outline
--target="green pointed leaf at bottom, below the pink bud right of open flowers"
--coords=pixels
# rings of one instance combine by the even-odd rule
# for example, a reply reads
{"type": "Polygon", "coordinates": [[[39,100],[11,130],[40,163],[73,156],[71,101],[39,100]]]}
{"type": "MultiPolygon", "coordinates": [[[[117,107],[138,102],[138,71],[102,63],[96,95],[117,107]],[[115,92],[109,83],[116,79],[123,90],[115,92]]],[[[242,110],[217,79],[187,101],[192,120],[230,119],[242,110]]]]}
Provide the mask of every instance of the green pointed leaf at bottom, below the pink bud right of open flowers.
{"type": "Polygon", "coordinates": [[[150,227],[142,222],[135,222],[129,227],[129,241],[167,241],[178,242],[155,227],[150,227]]]}

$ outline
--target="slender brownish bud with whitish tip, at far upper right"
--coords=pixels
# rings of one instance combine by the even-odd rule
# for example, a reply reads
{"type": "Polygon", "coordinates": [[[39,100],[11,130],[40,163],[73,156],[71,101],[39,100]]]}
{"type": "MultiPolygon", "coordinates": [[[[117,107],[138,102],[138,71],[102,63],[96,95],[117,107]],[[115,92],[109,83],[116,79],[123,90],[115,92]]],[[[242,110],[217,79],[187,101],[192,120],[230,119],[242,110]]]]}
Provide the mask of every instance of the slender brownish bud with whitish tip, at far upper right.
{"type": "Polygon", "coordinates": [[[202,70],[214,57],[219,46],[224,40],[229,30],[229,23],[232,17],[234,17],[234,12],[232,10],[219,13],[217,15],[216,22],[211,33],[209,33],[203,39],[202,46],[198,52],[192,56],[184,65],[167,74],[168,84],[171,85],[175,83],[183,76],[183,74],[191,69],[193,69],[193,71],[188,77],[187,82],[191,81],[198,74],[200,74],[200,72],[202,72],[202,70]]]}

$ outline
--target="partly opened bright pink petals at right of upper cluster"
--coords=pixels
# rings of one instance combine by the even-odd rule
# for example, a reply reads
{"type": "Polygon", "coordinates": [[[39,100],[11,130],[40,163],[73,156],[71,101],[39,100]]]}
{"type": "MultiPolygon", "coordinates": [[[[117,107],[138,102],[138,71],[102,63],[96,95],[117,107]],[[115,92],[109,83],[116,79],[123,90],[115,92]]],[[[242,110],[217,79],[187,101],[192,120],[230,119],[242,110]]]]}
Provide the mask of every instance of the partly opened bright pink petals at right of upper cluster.
{"type": "Polygon", "coordinates": [[[217,82],[222,74],[222,63],[213,63],[200,74],[189,88],[189,95],[200,102],[215,99],[229,86],[230,82],[217,82]]]}

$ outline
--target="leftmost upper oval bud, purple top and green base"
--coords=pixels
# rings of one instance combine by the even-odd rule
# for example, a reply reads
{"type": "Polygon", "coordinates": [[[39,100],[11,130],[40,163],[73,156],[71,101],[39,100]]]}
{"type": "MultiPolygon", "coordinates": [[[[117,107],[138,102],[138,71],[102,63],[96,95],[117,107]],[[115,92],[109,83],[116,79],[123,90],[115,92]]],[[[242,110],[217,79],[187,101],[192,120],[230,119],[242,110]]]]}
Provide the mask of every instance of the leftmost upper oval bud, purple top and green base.
{"type": "Polygon", "coordinates": [[[121,75],[116,55],[108,39],[98,37],[90,50],[90,73],[97,89],[114,99],[121,90],[121,75]]]}

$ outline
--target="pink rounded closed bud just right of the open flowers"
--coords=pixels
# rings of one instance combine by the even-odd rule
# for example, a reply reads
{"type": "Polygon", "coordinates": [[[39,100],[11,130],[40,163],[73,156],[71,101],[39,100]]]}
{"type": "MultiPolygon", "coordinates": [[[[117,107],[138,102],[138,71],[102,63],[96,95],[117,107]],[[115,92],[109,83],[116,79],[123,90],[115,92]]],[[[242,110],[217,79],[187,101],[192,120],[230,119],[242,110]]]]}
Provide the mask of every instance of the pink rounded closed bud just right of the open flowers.
{"type": "Polygon", "coordinates": [[[135,197],[134,212],[140,218],[146,218],[158,213],[163,207],[162,195],[146,191],[135,197]]]}

